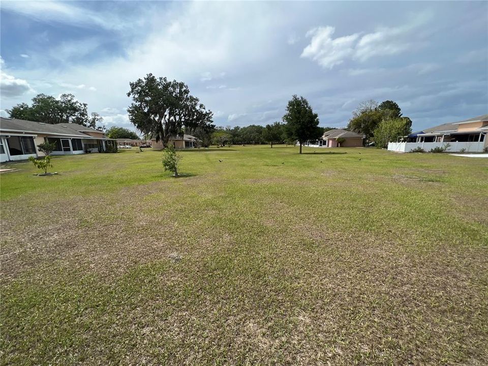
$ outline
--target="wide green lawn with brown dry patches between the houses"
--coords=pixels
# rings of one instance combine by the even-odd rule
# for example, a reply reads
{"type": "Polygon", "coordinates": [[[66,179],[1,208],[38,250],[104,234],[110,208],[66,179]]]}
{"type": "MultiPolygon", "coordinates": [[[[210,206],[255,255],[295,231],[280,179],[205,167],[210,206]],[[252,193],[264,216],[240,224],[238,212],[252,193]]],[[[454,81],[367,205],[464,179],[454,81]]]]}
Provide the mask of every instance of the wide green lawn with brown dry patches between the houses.
{"type": "Polygon", "coordinates": [[[297,152],[11,164],[1,363],[487,364],[488,160],[297,152]]]}

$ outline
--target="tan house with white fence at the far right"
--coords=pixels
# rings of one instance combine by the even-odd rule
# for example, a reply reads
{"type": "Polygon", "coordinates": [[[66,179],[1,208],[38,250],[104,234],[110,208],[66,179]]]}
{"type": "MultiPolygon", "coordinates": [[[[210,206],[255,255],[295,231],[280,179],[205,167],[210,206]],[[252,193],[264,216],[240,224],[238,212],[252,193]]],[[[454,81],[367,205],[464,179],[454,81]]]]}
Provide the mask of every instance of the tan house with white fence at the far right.
{"type": "Polygon", "coordinates": [[[447,147],[446,151],[480,153],[488,146],[488,114],[446,123],[408,135],[401,142],[389,142],[389,151],[408,153],[415,148],[429,151],[435,147],[447,147]]]}

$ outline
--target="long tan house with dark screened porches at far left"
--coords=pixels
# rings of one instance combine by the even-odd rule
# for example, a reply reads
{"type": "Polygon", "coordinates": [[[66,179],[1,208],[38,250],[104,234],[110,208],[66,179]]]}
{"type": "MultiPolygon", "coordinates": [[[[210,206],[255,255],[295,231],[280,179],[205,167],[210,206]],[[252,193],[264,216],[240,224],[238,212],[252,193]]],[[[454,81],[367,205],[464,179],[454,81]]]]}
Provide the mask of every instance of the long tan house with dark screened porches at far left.
{"type": "Polygon", "coordinates": [[[77,124],[0,117],[0,162],[43,157],[37,145],[44,142],[56,144],[51,155],[105,151],[108,145],[116,145],[103,132],[77,124]]]}

